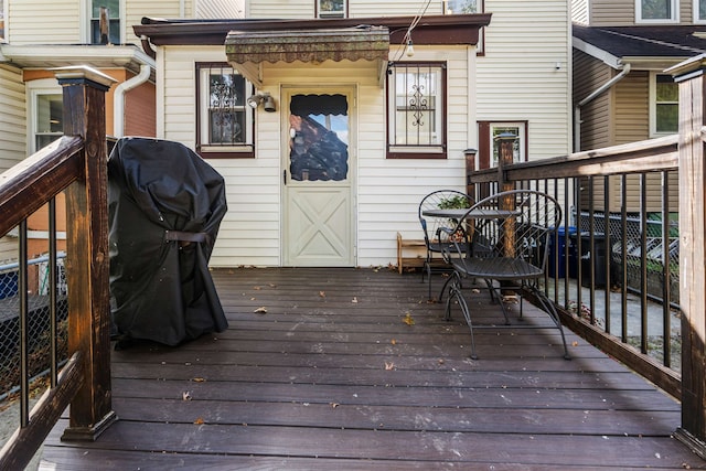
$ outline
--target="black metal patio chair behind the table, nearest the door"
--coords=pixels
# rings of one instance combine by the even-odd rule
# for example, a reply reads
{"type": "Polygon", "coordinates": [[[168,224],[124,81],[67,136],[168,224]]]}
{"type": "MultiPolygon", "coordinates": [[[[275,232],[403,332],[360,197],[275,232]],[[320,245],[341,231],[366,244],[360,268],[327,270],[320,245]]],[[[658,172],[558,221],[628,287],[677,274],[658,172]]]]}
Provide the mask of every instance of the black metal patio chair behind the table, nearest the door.
{"type": "MultiPolygon", "coordinates": [[[[429,299],[431,299],[431,274],[451,272],[451,267],[443,263],[441,253],[443,246],[439,240],[441,227],[453,227],[457,221],[448,217],[427,216],[425,213],[431,210],[467,208],[471,207],[473,199],[466,193],[456,190],[438,190],[426,195],[419,203],[419,223],[424,232],[424,242],[427,255],[421,270],[421,282],[427,278],[429,283],[429,299]]],[[[445,286],[446,288],[446,286],[445,286]]],[[[443,289],[442,291],[443,292],[443,289]]]]}

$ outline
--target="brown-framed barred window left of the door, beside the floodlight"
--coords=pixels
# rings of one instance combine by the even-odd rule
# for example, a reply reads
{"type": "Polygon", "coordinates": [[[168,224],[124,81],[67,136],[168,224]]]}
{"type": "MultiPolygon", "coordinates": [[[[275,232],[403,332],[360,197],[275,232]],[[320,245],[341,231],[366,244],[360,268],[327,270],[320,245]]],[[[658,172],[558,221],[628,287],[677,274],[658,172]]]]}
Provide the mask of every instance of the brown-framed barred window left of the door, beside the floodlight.
{"type": "Polygon", "coordinates": [[[249,82],[227,64],[197,64],[196,149],[202,157],[254,157],[249,82]]]}

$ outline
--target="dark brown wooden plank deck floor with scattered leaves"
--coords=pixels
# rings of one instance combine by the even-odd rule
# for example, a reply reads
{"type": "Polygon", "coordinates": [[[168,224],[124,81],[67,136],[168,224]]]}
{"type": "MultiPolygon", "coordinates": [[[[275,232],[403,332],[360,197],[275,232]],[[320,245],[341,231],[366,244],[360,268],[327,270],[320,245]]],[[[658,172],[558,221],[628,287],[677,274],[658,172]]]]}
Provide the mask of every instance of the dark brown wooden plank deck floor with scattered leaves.
{"type": "MultiPolygon", "coordinates": [[[[40,469],[706,469],[671,437],[680,404],[571,332],[571,361],[548,329],[478,331],[471,361],[460,313],[446,322],[419,275],[214,278],[229,329],[114,352],[119,421],[63,443],[63,418],[40,469]]],[[[471,306],[500,315],[484,292],[471,306]]]]}

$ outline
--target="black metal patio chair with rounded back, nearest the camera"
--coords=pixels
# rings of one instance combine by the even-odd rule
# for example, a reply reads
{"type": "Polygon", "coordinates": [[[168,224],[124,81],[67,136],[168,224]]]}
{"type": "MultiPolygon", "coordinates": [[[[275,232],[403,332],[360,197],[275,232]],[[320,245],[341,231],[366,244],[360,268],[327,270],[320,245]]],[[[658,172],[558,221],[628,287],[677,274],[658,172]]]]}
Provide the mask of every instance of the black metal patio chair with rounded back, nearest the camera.
{"type": "MultiPolygon", "coordinates": [[[[464,279],[484,280],[492,300],[501,306],[504,325],[513,329],[546,328],[510,320],[505,293],[532,295],[549,315],[553,327],[559,330],[564,357],[570,358],[559,315],[541,286],[547,267],[549,236],[560,222],[561,208],[552,196],[532,190],[513,190],[475,203],[458,221],[457,227],[441,231],[443,258],[453,267],[447,286],[446,317],[451,318],[451,306],[457,301],[471,330],[472,358],[478,358],[473,329],[502,325],[473,325],[472,312],[463,296],[464,279]],[[461,229],[466,231],[467,238],[457,242],[451,235],[461,229]]],[[[518,320],[522,320],[522,297],[518,320]]]]}

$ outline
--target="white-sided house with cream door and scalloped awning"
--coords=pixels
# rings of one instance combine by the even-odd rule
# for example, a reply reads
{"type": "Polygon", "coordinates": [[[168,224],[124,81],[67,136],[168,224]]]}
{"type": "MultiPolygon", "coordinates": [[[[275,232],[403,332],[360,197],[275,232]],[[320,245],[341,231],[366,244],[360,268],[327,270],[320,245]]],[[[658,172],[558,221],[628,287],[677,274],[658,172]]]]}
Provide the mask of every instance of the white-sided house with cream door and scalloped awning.
{"type": "Polygon", "coordinates": [[[249,0],[145,19],[157,135],[226,179],[214,266],[387,266],[417,206],[493,165],[570,152],[568,2],[249,0]],[[248,99],[250,98],[250,99],[248,99]]]}

